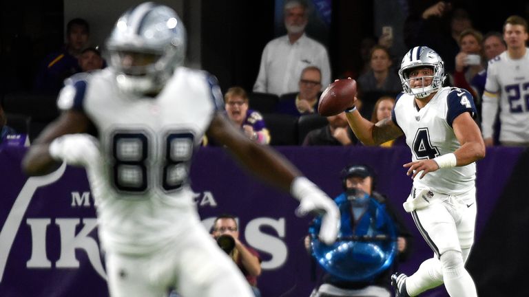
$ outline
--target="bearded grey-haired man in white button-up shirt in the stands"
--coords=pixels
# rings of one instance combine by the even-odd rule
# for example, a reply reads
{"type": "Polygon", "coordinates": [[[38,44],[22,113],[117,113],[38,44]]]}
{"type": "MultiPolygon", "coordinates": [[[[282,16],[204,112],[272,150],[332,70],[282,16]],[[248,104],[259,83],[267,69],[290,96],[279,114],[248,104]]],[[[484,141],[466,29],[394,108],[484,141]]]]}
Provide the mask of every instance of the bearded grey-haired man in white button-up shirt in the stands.
{"type": "Polygon", "coordinates": [[[308,7],[304,0],[287,0],[284,4],[284,26],[287,35],[270,41],[262,51],[254,92],[282,94],[298,91],[302,69],[320,68],[322,85],[331,83],[331,66],[327,50],[305,34],[308,7]]]}

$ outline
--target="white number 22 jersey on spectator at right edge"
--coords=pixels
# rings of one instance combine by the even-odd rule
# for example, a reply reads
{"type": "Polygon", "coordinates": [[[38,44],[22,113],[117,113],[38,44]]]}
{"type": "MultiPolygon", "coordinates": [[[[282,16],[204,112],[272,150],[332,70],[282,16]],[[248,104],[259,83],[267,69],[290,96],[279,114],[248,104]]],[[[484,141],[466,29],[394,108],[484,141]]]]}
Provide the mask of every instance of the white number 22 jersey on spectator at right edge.
{"type": "MultiPolygon", "coordinates": [[[[517,60],[510,58],[507,51],[492,58],[485,91],[499,94],[499,141],[529,142],[529,48],[517,60]]],[[[484,117],[484,129],[492,131],[494,120],[484,117]]]]}

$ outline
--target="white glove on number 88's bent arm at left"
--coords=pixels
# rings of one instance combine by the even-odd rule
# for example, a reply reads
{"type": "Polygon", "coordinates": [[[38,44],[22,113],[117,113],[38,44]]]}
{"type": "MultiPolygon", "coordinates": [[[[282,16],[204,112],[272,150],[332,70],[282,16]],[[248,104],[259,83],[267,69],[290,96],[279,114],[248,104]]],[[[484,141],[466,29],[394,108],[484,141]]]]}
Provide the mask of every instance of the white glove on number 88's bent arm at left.
{"type": "Polygon", "coordinates": [[[98,140],[92,135],[80,133],[55,138],[49,152],[52,158],[76,166],[95,164],[101,156],[98,140]]]}

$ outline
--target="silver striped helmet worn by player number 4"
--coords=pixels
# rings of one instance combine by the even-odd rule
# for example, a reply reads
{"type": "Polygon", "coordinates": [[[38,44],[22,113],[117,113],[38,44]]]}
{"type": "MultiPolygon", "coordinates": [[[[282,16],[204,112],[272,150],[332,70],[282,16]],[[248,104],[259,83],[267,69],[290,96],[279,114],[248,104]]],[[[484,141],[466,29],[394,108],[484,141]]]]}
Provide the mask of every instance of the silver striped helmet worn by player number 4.
{"type": "Polygon", "coordinates": [[[430,47],[418,46],[409,50],[402,58],[402,63],[399,70],[400,81],[404,93],[413,95],[417,98],[424,98],[437,89],[443,87],[443,82],[446,76],[444,75],[443,59],[430,47]],[[423,76],[423,86],[412,88],[410,85],[409,74],[411,69],[417,67],[431,67],[433,69],[433,76],[423,76]],[[424,85],[424,78],[432,78],[430,85],[424,85]]]}

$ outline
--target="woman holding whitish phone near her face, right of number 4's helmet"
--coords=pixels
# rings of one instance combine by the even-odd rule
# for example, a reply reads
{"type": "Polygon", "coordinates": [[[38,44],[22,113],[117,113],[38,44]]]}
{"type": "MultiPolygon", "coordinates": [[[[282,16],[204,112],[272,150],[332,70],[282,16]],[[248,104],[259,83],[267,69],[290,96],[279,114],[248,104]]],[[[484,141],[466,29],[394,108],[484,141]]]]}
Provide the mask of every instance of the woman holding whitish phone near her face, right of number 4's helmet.
{"type": "Polygon", "coordinates": [[[481,98],[477,87],[472,85],[475,76],[485,69],[487,61],[482,54],[481,44],[483,35],[474,29],[467,29],[459,36],[461,51],[455,56],[455,71],[453,72],[453,85],[466,89],[474,97],[476,108],[481,110],[481,98]]]}

